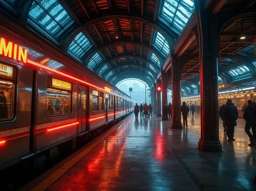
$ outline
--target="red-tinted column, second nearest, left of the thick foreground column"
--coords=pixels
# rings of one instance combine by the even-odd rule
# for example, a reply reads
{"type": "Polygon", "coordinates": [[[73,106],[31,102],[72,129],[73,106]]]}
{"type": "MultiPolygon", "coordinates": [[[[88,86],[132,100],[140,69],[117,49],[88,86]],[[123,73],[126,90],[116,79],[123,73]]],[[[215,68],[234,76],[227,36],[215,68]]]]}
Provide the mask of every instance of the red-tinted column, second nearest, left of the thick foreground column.
{"type": "Polygon", "coordinates": [[[177,61],[177,56],[172,56],[172,100],[173,100],[173,113],[172,113],[172,128],[181,129],[181,90],[180,90],[181,69],[177,61]]]}

